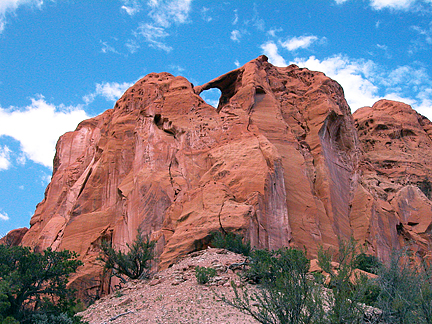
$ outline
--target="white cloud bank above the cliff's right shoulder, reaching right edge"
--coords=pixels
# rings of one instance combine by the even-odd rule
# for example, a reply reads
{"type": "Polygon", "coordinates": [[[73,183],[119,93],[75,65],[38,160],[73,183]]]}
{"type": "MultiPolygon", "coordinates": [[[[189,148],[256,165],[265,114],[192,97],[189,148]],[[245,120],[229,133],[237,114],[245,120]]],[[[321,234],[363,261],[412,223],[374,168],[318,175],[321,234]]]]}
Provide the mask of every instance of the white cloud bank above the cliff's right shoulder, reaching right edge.
{"type": "Polygon", "coordinates": [[[342,55],[296,58],[293,63],[339,82],[352,111],[386,98],[407,103],[432,120],[432,79],[424,67],[405,65],[389,71],[370,60],[342,55]]]}

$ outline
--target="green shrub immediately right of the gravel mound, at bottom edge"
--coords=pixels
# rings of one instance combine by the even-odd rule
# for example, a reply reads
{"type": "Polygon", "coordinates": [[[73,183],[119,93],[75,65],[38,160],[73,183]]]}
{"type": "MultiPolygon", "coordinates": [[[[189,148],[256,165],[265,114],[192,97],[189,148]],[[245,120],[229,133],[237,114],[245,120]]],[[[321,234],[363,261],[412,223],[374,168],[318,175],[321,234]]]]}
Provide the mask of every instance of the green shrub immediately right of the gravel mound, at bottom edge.
{"type": "Polygon", "coordinates": [[[233,283],[234,299],[223,300],[260,323],[320,323],[320,287],[308,278],[309,260],[301,250],[255,250],[244,279],[258,283],[252,292],[233,283]]]}

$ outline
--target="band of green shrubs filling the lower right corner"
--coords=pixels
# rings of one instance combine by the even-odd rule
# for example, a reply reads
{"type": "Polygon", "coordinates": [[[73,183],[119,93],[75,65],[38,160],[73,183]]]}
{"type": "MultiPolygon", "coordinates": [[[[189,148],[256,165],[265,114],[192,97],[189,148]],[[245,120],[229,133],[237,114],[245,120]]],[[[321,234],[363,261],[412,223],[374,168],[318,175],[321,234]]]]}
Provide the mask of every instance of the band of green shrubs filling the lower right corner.
{"type": "Polygon", "coordinates": [[[428,263],[416,266],[397,251],[383,264],[358,250],[353,239],[340,240],[338,251],[321,249],[324,275],[314,276],[300,250],[254,250],[241,277],[256,286],[231,283],[235,298],[222,300],[260,323],[432,323],[428,263]]]}

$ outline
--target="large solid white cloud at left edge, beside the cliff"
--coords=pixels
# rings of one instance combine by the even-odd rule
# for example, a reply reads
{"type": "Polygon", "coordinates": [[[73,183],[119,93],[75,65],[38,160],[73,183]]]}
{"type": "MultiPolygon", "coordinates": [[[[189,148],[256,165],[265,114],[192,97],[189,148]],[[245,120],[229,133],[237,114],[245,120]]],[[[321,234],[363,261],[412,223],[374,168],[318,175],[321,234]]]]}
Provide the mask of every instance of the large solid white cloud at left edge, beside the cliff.
{"type": "Polygon", "coordinates": [[[87,118],[79,106],[56,107],[41,96],[24,109],[0,107],[0,136],[14,138],[28,159],[52,167],[58,138],[87,118]]]}

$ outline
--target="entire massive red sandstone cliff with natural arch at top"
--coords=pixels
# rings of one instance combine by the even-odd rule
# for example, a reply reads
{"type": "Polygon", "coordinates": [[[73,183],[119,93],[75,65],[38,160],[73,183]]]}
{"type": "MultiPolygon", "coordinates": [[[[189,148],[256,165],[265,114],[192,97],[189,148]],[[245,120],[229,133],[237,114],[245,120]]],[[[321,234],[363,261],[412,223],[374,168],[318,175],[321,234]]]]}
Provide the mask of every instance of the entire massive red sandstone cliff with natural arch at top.
{"type": "Polygon", "coordinates": [[[122,248],[138,228],[157,240],[162,268],[221,228],[310,256],[350,236],[381,258],[407,239],[424,253],[431,132],[390,101],[354,122],[338,83],[265,56],[197,87],[152,73],[59,139],[21,244],[77,251],[85,266],[73,284],[90,295],[107,291],[101,240],[122,248]],[[211,88],[217,109],[199,96],[211,88]]]}

